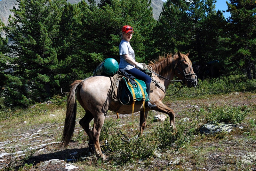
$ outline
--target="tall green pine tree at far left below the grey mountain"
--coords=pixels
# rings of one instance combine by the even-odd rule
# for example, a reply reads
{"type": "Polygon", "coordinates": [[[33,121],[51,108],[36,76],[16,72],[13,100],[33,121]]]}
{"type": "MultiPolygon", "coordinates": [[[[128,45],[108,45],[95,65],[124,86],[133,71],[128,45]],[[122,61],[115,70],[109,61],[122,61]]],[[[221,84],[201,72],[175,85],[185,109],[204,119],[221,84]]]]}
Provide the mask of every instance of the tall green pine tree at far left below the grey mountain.
{"type": "Polygon", "coordinates": [[[6,97],[12,105],[28,105],[49,98],[59,86],[57,48],[59,23],[65,0],[17,0],[19,8],[11,10],[9,26],[4,28],[12,41],[8,46],[13,72],[6,75],[6,97]]]}

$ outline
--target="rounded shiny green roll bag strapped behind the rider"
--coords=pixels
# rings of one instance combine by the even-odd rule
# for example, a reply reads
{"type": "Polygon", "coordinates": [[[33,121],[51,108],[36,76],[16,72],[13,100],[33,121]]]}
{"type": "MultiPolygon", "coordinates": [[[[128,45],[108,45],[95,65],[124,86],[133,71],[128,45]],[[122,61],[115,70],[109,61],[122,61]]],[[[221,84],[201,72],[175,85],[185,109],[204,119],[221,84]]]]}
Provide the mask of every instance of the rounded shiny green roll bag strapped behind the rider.
{"type": "Polygon", "coordinates": [[[113,76],[117,73],[119,68],[118,62],[113,58],[105,59],[97,68],[93,71],[93,76],[105,75],[113,76]]]}

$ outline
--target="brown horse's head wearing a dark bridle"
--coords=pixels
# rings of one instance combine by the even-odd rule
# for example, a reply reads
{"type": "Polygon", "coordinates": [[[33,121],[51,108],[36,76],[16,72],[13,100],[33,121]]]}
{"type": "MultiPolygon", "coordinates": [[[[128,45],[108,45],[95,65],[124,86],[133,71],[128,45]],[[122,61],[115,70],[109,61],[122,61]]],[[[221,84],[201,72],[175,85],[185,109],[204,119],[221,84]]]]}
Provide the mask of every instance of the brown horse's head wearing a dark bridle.
{"type": "Polygon", "coordinates": [[[190,88],[196,87],[197,79],[193,71],[192,63],[188,59],[188,54],[184,55],[178,51],[178,62],[174,63],[174,73],[178,78],[183,80],[183,84],[190,88]]]}

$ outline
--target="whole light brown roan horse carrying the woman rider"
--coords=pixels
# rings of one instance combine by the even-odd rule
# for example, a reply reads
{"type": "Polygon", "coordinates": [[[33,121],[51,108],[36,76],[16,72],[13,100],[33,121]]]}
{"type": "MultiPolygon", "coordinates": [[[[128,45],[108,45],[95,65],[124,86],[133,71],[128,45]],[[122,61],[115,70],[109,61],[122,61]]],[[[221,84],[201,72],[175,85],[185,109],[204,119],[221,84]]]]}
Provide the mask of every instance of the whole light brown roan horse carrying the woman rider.
{"type": "MultiPolygon", "coordinates": [[[[155,108],[145,108],[145,115],[143,105],[135,105],[134,112],[140,111],[140,133],[146,126],[146,118],[149,110],[156,110],[163,112],[170,116],[170,124],[175,126],[175,113],[162,103],[164,99],[166,88],[171,83],[171,80],[176,75],[183,80],[183,84],[187,87],[196,87],[196,74],[193,71],[191,61],[188,59],[188,54],[184,55],[178,52],[176,55],[167,55],[167,57],[159,57],[158,61],[150,63],[152,70],[156,74],[152,77],[164,86],[157,86],[151,83],[153,90],[150,90],[150,97],[156,104],[155,108]]],[[[105,155],[100,149],[100,130],[103,126],[105,116],[108,110],[120,114],[132,113],[130,105],[121,105],[118,101],[113,101],[110,95],[112,78],[106,76],[91,77],[86,80],[76,80],[71,84],[71,89],[67,100],[67,112],[65,125],[62,135],[62,145],[67,146],[70,142],[76,121],[76,97],[80,105],[85,110],[84,117],[79,121],[85,132],[90,138],[89,149],[95,153],[97,157],[106,159],[105,155]],[[75,97],[76,93],[76,97],[75,97]],[[92,130],[89,129],[89,123],[94,118],[92,130]]]]}

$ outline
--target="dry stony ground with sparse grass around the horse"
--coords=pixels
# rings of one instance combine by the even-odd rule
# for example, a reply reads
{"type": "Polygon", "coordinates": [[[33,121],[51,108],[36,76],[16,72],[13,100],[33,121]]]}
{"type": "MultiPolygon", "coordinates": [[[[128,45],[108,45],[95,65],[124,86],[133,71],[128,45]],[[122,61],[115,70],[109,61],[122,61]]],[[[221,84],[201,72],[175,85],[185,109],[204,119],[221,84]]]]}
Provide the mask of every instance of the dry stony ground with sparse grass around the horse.
{"type": "MultiPolygon", "coordinates": [[[[59,147],[64,123],[46,123],[29,127],[17,126],[19,129],[12,130],[2,128],[0,132],[2,136],[6,134],[6,139],[0,142],[0,167],[7,169],[10,168],[7,167],[7,164],[9,166],[14,164],[18,167],[12,167],[12,169],[18,170],[20,164],[24,164],[21,160],[30,157],[27,162],[32,163],[33,166],[28,166],[27,169],[22,166],[24,170],[256,170],[256,127],[248,125],[249,120],[256,119],[256,94],[239,92],[211,95],[194,100],[165,101],[165,104],[176,113],[176,121],[185,117],[190,120],[196,119],[189,116],[188,112],[199,110],[202,106],[213,103],[228,106],[246,105],[253,108],[253,114],[248,115],[244,122],[239,124],[239,126],[243,126],[243,129],[234,129],[224,138],[195,135],[195,139],[189,145],[178,151],[160,150],[158,155],[153,158],[139,160],[124,166],[111,166],[108,162],[102,164],[97,161],[95,156],[89,152],[87,135],[78,124],[74,133],[76,139],[72,140],[67,148],[59,147]],[[31,157],[28,153],[32,151],[35,153],[31,153],[31,157]],[[9,155],[4,155],[5,152],[9,155]],[[10,155],[11,152],[18,153],[10,155]],[[77,159],[79,160],[77,161],[77,159]],[[76,168],[70,169],[68,164],[76,166],[76,168]]],[[[156,111],[152,113],[152,115],[157,114],[160,113],[156,111]]],[[[137,120],[139,120],[138,115],[135,113],[137,120]]],[[[111,112],[107,117],[116,118],[116,114],[111,112]]],[[[77,118],[78,122],[79,118],[77,118]]],[[[121,129],[127,128],[125,125],[127,122],[132,122],[132,114],[120,115],[119,124],[124,124],[121,129]]],[[[138,127],[138,124],[135,126],[138,127]]],[[[101,142],[101,144],[103,143],[101,142]]]]}

